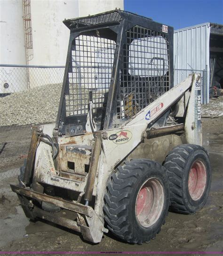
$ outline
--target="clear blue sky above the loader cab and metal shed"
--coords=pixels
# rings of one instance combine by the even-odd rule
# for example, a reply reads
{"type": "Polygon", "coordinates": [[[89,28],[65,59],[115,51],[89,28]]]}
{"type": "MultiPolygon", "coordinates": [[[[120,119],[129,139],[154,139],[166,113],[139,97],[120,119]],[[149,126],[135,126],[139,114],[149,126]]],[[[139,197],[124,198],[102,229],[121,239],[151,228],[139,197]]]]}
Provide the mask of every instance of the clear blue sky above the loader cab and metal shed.
{"type": "Polygon", "coordinates": [[[124,10],[175,30],[206,22],[223,24],[223,0],[124,0],[124,10]]]}

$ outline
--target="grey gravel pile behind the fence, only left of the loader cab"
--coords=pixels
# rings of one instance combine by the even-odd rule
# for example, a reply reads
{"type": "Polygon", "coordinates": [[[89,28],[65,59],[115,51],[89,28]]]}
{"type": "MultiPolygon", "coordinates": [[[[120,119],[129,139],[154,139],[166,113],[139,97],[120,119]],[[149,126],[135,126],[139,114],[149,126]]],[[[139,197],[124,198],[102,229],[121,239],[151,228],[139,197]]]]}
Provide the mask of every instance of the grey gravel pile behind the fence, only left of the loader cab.
{"type": "Polygon", "coordinates": [[[0,98],[0,126],[56,121],[62,84],[51,84],[0,98]]]}

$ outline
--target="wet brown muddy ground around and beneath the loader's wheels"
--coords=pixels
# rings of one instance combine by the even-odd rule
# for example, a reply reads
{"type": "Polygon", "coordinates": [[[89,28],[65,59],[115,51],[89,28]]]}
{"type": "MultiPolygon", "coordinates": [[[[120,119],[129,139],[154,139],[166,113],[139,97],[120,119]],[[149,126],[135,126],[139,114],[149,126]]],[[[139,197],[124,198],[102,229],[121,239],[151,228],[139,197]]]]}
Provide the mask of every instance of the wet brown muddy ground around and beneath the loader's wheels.
{"type": "MultiPolygon", "coordinates": [[[[206,206],[194,215],[169,213],[161,232],[149,244],[130,245],[111,233],[100,244],[44,221],[31,222],[9,183],[17,183],[30,142],[29,127],[6,132],[0,161],[0,251],[221,251],[223,252],[223,116],[203,118],[203,145],[212,166],[211,192],[206,206]],[[18,132],[22,133],[16,139],[18,132]],[[10,143],[9,143],[10,142],[10,143]],[[2,157],[4,154],[5,157],[2,157]]],[[[4,132],[1,130],[0,132],[4,132]]]]}

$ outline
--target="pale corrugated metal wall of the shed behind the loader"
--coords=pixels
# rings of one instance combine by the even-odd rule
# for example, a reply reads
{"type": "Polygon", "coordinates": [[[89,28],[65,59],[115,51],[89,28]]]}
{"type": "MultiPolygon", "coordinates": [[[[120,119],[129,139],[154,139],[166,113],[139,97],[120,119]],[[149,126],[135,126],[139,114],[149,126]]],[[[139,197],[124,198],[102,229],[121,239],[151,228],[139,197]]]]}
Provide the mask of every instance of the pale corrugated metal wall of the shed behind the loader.
{"type": "MultiPolygon", "coordinates": [[[[174,67],[175,69],[202,70],[207,68],[204,81],[203,101],[209,101],[209,23],[195,25],[174,31],[174,67]]],[[[190,71],[175,70],[174,84],[180,83],[190,71]]]]}

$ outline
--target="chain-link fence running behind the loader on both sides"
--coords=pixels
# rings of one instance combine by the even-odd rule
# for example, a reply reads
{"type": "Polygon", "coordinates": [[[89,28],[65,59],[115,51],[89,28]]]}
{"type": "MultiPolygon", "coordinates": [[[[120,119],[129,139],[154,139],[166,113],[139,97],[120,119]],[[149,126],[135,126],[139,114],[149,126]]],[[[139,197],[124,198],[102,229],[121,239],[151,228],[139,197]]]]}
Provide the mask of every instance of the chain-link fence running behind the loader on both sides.
{"type": "MultiPolygon", "coordinates": [[[[193,72],[201,74],[202,88],[207,88],[202,70],[175,69],[175,84],[193,72]]],[[[63,78],[64,66],[0,65],[1,175],[7,177],[4,170],[27,157],[33,124],[56,121],[63,78]]],[[[203,91],[203,100],[206,96],[203,91]]]]}

